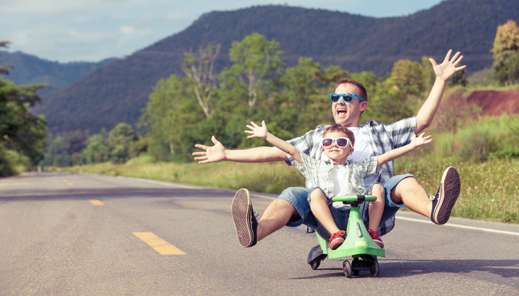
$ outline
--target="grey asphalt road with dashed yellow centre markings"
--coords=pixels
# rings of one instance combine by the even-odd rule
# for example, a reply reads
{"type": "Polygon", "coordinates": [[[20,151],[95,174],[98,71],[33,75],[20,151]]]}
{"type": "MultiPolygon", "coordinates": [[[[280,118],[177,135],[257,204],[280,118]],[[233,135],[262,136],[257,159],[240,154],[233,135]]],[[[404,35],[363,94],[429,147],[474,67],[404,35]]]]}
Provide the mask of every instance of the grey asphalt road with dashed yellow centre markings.
{"type": "MultiPolygon", "coordinates": [[[[2,178],[0,295],[519,295],[519,225],[438,226],[401,210],[383,236],[379,277],[348,279],[344,259],[310,268],[317,239],[306,227],[241,247],[234,192],[67,173],[2,178]]],[[[275,197],[252,196],[260,213],[275,197]]]]}

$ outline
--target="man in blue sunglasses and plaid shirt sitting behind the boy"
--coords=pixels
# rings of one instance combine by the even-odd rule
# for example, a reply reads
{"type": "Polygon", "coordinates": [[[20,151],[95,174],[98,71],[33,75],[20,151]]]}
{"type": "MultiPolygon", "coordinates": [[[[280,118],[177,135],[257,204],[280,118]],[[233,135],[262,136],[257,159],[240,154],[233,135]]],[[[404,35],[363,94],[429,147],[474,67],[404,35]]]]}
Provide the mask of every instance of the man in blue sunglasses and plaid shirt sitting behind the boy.
{"type": "MultiPolygon", "coordinates": [[[[456,67],[463,59],[460,52],[457,52],[452,59],[450,58],[451,54],[452,50],[449,50],[444,61],[439,65],[433,59],[430,59],[436,79],[427,100],[420,107],[416,116],[389,125],[378,124],[373,120],[360,125],[360,115],[367,107],[365,88],[361,83],[350,79],[342,79],[337,83],[335,93],[330,95],[333,117],[335,123],[345,125],[355,134],[357,140],[354,150],[357,153],[352,155],[353,161],[377,156],[406,145],[414,134],[420,133],[431,124],[440,105],[448,79],[457,71],[466,67],[456,67]]],[[[319,125],[315,130],[288,142],[299,151],[312,158],[319,159],[322,157],[320,141],[326,126],[319,125]]],[[[195,147],[205,150],[193,153],[195,160],[198,160],[199,163],[219,161],[285,161],[289,165],[294,163],[293,158],[276,147],[227,150],[214,136],[211,137],[211,140],[215,144],[214,146],[195,145],[195,147]]],[[[447,222],[460,192],[460,178],[454,167],[448,167],[445,170],[438,192],[434,196],[429,196],[425,188],[413,175],[392,176],[393,162],[386,163],[380,170],[380,175],[366,179],[365,185],[369,187],[376,181],[383,184],[386,190],[386,207],[378,229],[381,235],[393,228],[394,215],[400,207],[408,207],[431,218],[431,221],[436,224],[447,222]]],[[[306,186],[311,185],[307,184],[306,186]]],[[[307,193],[296,187],[285,189],[276,200],[265,208],[258,221],[253,215],[248,190],[240,189],[234,197],[231,212],[238,239],[244,247],[255,245],[257,241],[284,225],[297,227],[302,223],[310,226],[316,223],[315,217],[310,211],[307,193]]],[[[361,209],[361,212],[365,213],[362,218],[364,222],[367,222],[367,209],[361,209]]]]}

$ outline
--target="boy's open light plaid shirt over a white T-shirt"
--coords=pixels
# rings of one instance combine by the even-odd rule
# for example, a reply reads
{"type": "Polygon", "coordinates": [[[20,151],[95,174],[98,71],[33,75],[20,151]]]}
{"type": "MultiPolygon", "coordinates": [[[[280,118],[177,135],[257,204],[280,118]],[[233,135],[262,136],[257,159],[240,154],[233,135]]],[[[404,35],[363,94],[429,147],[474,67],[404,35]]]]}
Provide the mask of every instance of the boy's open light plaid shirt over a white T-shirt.
{"type": "MultiPolygon", "coordinates": [[[[327,197],[334,196],[334,184],[330,179],[333,168],[331,160],[317,160],[301,153],[301,164],[296,161],[295,166],[305,176],[307,188],[319,187],[327,197]]],[[[351,188],[356,194],[364,194],[364,178],[377,173],[377,158],[371,157],[359,162],[347,163],[345,166],[351,188]]]]}

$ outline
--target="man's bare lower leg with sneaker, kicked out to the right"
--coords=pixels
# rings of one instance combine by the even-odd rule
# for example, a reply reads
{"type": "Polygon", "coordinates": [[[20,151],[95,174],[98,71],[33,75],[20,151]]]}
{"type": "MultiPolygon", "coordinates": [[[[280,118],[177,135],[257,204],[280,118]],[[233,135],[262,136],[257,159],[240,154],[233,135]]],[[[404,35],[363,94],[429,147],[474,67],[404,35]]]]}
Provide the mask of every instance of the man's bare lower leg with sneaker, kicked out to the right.
{"type": "Polygon", "coordinates": [[[436,224],[445,224],[461,190],[456,168],[444,171],[436,195],[429,196],[425,188],[413,177],[407,177],[391,189],[391,201],[404,204],[414,212],[424,215],[436,224]]]}

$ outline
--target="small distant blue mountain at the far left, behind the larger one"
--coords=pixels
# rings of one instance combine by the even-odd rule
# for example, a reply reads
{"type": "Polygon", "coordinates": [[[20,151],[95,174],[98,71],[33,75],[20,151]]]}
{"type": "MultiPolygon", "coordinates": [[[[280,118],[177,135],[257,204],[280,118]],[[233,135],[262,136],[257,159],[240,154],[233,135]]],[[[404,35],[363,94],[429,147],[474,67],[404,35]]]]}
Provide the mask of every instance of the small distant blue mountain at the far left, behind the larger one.
{"type": "Polygon", "coordinates": [[[35,55],[26,54],[20,51],[8,52],[0,51],[3,59],[0,64],[14,65],[10,69],[9,75],[5,79],[11,80],[16,84],[36,84],[47,83],[52,88],[46,88],[39,92],[40,95],[59,91],[69,86],[72,82],[85,77],[97,68],[105,66],[115,61],[115,58],[105,59],[101,62],[71,62],[59,63],[40,59],[35,55]]]}

